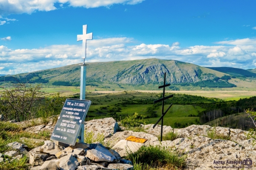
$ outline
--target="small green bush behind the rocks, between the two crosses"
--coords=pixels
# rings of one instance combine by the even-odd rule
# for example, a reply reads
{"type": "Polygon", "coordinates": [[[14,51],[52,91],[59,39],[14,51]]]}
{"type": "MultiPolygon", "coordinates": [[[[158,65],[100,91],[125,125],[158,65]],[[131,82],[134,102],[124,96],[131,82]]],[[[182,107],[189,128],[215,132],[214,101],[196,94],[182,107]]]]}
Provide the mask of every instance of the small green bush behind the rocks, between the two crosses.
{"type": "Polygon", "coordinates": [[[140,124],[146,124],[146,121],[143,120],[146,118],[145,115],[139,115],[135,112],[133,115],[128,115],[128,117],[121,120],[121,125],[124,127],[139,127],[140,124]]]}

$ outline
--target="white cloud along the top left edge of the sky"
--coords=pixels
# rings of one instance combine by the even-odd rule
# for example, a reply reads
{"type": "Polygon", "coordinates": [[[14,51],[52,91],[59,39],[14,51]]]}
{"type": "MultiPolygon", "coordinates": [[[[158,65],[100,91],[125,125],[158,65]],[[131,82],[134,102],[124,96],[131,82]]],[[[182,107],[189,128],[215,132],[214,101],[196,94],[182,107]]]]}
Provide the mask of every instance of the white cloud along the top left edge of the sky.
{"type": "Polygon", "coordinates": [[[36,11],[52,11],[57,9],[55,3],[68,4],[73,7],[96,8],[113,4],[141,3],[143,0],[0,0],[0,16],[9,14],[31,14],[36,11]]]}

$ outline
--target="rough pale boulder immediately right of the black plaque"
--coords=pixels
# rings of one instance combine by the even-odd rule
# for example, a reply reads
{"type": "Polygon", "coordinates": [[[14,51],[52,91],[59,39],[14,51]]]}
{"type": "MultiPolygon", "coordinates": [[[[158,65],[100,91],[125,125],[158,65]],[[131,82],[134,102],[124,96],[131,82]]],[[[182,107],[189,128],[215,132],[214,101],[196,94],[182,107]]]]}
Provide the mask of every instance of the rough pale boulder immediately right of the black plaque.
{"type": "Polygon", "coordinates": [[[104,138],[109,138],[116,133],[118,129],[119,125],[113,118],[95,119],[87,121],[84,125],[84,133],[93,132],[94,138],[96,138],[98,134],[103,134],[104,138]]]}

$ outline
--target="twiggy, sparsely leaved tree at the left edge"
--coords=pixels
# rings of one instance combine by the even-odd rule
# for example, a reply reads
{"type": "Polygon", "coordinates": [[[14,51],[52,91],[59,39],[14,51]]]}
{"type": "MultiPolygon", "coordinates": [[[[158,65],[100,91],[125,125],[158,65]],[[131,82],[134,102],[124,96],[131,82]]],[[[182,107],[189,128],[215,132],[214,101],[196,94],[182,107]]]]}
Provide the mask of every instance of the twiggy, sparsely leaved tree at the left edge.
{"type": "Polygon", "coordinates": [[[18,80],[9,89],[4,89],[0,98],[0,113],[5,121],[23,121],[35,118],[40,102],[41,85],[22,83],[18,80]]]}

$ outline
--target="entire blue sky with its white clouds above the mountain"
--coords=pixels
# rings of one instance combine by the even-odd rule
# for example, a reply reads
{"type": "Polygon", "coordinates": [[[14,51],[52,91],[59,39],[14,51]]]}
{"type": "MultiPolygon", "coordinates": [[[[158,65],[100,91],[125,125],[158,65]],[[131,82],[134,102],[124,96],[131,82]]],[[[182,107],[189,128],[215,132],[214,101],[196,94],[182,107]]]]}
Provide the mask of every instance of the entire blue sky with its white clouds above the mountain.
{"type": "Polygon", "coordinates": [[[160,58],[256,68],[255,0],[1,0],[0,74],[160,58]]]}

